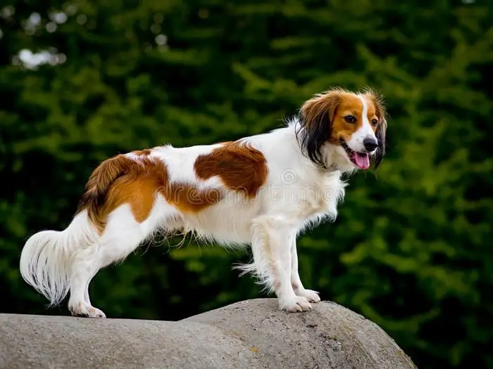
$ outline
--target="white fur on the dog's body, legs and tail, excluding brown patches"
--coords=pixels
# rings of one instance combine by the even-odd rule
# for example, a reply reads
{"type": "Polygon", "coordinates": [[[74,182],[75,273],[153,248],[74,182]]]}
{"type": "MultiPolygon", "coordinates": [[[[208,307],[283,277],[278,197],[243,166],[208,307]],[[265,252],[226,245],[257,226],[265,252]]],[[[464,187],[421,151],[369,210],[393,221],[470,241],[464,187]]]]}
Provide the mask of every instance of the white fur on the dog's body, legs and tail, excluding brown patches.
{"type": "MultiPolygon", "coordinates": [[[[91,305],[88,293],[89,283],[100,268],[122,261],[156,231],[193,231],[199,239],[215,240],[225,247],[251,244],[252,264],[238,268],[255,273],[259,283],[273,290],[280,309],[311,309],[310,302],[318,302],[320,297],[301,283],[296,239],[320,221],[336,218],[346,186],[341,175],[355,168],[344,150],[330,143],[322,152],[328,167],[337,169],[327,171],[313,164],[301,153],[295,135],[298,124],[295,119],[287,127],[242,140],[260,150],[268,163],[267,181],[251,200],[227,190],[217,177],[208,181],[196,178],[196,157],[220,145],[154,148],[151,156],[166,163],[170,181],[220,187],[225,198],[189,215],[156,195],[151,214],[142,223],[135,221],[128,205],[122,205],[108,216],[101,236],[81,212],[65,231],[44,231],[27,240],[20,258],[23,278],[51,304],[61,302],[70,291],[68,306],[74,314],[104,317],[91,305]]],[[[128,157],[141,160],[133,154],[128,157]]]]}

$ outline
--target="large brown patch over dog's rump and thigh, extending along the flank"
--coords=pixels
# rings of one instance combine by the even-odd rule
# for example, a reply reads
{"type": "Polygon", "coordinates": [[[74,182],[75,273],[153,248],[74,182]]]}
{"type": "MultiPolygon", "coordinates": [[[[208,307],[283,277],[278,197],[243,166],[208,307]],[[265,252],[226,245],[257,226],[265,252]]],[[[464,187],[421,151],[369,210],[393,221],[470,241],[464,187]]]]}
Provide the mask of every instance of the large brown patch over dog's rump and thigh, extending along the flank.
{"type": "Polygon", "coordinates": [[[182,212],[199,212],[223,198],[218,188],[199,189],[189,183],[170,183],[166,164],[161,160],[149,157],[132,160],[118,155],[94,170],[77,213],[86,209],[89,219],[102,233],[108,214],[123,204],[130,205],[136,221],[146,220],[157,193],[182,212]]]}

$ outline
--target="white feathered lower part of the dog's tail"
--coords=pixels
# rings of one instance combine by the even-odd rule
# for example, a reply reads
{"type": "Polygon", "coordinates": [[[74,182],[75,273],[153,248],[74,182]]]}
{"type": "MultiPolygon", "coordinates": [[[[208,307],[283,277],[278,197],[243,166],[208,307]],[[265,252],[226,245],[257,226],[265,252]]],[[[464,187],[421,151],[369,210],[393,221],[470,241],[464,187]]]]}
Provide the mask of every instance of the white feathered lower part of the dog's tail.
{"type": "Polygon", "coordinates": [[[86,211],[77,214],[63,231],[35,233],[20,254],[20,274],[49,299],[49,306],[57,305],[70,289],[73,254],[94,245],[96,238],[86,211]]]}

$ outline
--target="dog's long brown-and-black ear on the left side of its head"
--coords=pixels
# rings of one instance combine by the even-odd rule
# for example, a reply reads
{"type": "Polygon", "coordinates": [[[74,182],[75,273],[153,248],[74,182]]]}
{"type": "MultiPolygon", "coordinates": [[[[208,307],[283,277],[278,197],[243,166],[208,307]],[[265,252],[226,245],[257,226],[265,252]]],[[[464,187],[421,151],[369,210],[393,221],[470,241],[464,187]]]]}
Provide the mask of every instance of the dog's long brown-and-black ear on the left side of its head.
{"type": "Polygon", "coordinates": [[[320,167],[326,166],[320,148],[330,140],[332,121],[340,100],[340,91],[333,89],[313,96],[299,110],[301,129],[298,139],[301,149],[320,167]]]}

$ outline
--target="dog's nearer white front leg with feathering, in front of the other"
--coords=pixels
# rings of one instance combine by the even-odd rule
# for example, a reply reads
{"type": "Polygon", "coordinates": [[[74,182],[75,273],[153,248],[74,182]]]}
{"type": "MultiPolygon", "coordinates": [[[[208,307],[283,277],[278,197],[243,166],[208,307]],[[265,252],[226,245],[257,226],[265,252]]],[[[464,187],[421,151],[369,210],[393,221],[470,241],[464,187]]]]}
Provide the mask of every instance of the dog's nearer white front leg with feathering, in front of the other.
{"type": "Polygon", "coordinates": [[[296,312],[308,311],[311,304],[294,293],[291,245],[296,238],[294,224],[285,216],[261,216],[252,227],[252,251],[256,273],[279,300],[279,309],[296,312]]]}

